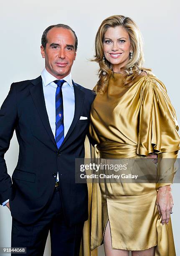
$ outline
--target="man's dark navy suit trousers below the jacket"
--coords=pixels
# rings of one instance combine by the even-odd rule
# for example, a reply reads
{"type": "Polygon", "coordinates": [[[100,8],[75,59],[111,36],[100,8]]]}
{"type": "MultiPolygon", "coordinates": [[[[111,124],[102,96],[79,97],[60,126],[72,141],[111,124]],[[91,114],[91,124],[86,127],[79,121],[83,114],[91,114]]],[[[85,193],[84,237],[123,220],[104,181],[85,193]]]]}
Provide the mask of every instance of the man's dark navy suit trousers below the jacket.
{"type": "Polygon", "coordinates": [[[66,225],[60,190],[55,187],[51,202],[40,220],[31,225],[24,225],[13,218],[11,247],[26,247],[26,256],[43,256],[50,230],[51,256],[79,256],[83,226],[84,222],[72,227],[66,225]]]}

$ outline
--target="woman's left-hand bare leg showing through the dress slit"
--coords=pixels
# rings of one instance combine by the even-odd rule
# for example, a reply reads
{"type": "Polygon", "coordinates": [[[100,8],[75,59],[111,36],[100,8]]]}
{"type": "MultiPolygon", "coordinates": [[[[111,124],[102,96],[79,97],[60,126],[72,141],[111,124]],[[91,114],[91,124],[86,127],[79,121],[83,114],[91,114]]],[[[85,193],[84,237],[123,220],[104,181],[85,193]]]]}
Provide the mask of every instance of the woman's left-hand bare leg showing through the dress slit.
{"type": "Polygon", "coordinates": [[[104,251],[106,256],[129,256],[129,251],[112,249],[111,231],[109,221],[104,233],[104,251]]]}

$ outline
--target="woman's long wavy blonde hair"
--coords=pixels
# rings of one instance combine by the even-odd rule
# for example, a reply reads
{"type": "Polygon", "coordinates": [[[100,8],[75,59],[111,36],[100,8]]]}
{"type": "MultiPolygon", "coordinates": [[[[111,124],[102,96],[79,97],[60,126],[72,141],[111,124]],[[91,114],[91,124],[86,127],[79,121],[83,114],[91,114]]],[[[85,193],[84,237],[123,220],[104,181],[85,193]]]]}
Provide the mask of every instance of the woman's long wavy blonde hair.
{"type": "Polygon", "coordinates": [[[124,76],[124,85],[130,86],[133,83],[134,77],[137,77],[141,74],[142,70],[151,70],[142,68],[142,64],[144,62],[144,54],[142,50],[142,36],[137,27],[136,23],[129,17],[125,17],[123,15],[113,15],[101,23],[95,38],[95,54],[94,59],[92,61],[96,61],[99,64],[99,81],[97,82],[96,92],[104,93],[106,91],[106,87],[108,85],[108,80],[110,75],[112,74],[112,67],[109,61],[107,61],[104,57],[104,34],[107,29],[110,27],[121,26],[124,28],[129,34],[131,49],[133,51],[132,59],[130,59],[129,53],[129,61],[122,68],[127,76],[124,76]],[[130,72],[130,68],[132,67],[132,73],[130,72]],[[105,72],[103,74],[103,72],[105,72]]]}

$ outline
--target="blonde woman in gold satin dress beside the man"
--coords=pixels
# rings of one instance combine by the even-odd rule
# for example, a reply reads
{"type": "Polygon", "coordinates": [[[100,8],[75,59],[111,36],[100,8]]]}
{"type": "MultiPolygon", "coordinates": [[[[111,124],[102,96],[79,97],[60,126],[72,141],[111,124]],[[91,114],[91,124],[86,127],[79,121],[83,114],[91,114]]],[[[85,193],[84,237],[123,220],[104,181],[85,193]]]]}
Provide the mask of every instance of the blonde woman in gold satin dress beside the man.
{"type": "Polygon", "coordinates": [[[157,183],[93,184],[91,249],[104,242],[106,256],[129,251],[132,256],[175,256],[170,184],[180,148],[176,114],[164,84],[142,68],[142,39],[131,18],[114,15],[101,23],[94,60],[100,69],[90,134],[99,163],[131,159],[141,172],[152,169],[160,178],[157,183]],[[171,161],[161,161],[158,168],[139,161],[151,153],[158,161],[171,161]]]}

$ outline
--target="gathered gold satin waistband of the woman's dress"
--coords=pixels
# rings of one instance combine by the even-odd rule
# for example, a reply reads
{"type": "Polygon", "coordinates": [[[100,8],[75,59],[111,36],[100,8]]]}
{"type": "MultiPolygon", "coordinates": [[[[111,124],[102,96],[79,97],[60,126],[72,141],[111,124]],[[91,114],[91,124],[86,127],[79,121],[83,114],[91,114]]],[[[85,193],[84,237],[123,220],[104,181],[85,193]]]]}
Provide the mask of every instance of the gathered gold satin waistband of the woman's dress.
{"type": "Polygon", "coordinates": [[[137,145],[128,145],[115,141],[104,141],[96,145],[100,158],[119,159],[137,156],[137,145]]]}

